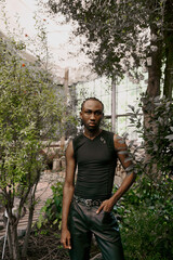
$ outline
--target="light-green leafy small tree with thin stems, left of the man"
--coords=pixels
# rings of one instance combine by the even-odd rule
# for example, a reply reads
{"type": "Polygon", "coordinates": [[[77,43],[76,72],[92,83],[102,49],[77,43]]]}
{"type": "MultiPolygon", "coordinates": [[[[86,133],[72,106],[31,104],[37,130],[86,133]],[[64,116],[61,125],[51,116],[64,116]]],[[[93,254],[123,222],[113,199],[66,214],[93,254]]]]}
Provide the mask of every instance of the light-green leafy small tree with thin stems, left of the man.
{"type": "Polygon", "coordinates": [[[44,169],[40,151],[61,135],[64,110],[62,94],[51,75],[37,63],[23,60],[24,49],[24,43],[14,39],[0,39],[0,195],[9,219],[10,257],[14,260],[21,259],[17,225],[27,203],[29,217],[22,251],[26,255],[35,193],[44,169]]]}

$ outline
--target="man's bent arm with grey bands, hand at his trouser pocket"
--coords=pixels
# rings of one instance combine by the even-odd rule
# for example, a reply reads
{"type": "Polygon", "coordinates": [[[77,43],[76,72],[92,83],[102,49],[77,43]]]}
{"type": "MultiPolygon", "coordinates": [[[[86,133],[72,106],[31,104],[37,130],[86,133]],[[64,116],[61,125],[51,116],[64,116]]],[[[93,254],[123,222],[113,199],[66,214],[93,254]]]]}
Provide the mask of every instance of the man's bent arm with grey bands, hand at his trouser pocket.
{"type": "Polygon", "coordinates": [[[122,184],[117,192],[109,198],[102,203],[101,207],[96,211],[99,213],[101,210],[110,212],[116,203],[122,197],[122,195],[130,188],[135,180],[135,173],[133,172],[133,162],[128,152],[128,146],[122,138],[115,134],[114,136],[115,148],[117,151],[118,158],[127,172],[127,177],[122,181],[122,184]]]}

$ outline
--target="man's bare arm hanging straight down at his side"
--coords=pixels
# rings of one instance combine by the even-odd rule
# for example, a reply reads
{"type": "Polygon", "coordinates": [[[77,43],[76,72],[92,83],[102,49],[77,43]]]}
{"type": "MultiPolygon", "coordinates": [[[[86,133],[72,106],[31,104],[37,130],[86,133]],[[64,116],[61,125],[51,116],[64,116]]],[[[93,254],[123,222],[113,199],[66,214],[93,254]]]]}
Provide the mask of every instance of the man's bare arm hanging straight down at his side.
{"type": "Polygon", "coordinates": [[[62,213],[62,238],[64,248],[71,249],[70,233],[68,231],[68,214],[75,190],[76,161],[74,157],[72,141],[69,142],[66,150],[66,178],[63,188],[63,213],[62,213]]]}

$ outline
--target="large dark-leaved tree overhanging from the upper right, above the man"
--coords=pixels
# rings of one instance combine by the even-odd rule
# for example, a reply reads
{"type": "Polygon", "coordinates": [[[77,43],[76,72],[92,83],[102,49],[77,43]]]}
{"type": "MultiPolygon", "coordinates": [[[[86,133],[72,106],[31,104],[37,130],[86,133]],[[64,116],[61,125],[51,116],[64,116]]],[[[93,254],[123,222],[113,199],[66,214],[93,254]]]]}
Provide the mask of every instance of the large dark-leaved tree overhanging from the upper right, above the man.
{"type": "Polygon", "coordinates": [[[49,0],[54,13],[78,22],[76,34],[86,37],[85,47],[98,75],[137,74],[148,66],[147,94],[160,93],[162,62],[164,94],[172,96],[172,12],[171,0],[49,0]],[[148,63],[146,62],[148,61],[148,63]]]}

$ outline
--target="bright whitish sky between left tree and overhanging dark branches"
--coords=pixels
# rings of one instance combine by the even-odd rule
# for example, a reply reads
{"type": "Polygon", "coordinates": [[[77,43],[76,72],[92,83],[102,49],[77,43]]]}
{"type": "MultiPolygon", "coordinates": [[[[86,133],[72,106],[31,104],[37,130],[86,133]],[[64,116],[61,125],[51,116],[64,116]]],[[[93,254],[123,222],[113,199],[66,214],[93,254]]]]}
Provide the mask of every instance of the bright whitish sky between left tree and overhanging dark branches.
{"type": "MultiPolygon", "coordinates": [[[[4,11],[0,5],[0,30],[5,35],[10,29],[21,40],[28,41],[28,39],[37,37],[36,21],[43,24],[48,31],[48,46],[51,54],[49,62],[52,72],[61,81],[64,79],[65,69],[69,69],[69,84],[95,78],[90,69],[91,61],[80,51],[80,42],[84,38],[77,38],[72,35],[72,23],[62,24],[65,22],[64,16],[61,14],[49,15],[48,10],[38,6],[38,0],[1,0],[1,2],[4,2],[4,11]],[[8,30],[3,23],[3,12],[8,21],[8,30]]],[[[32,54],[36,47],[39,49],[39,44],[35,41],[27,48],[27,52],[32,54]]]]}

